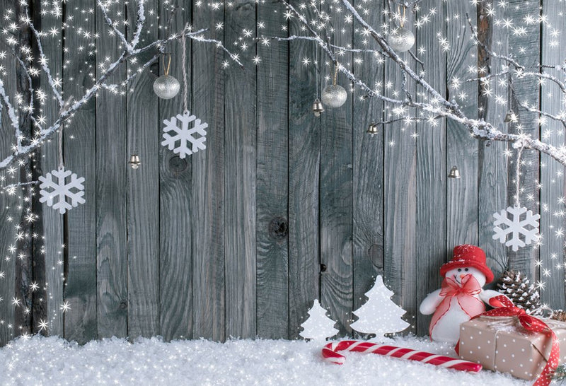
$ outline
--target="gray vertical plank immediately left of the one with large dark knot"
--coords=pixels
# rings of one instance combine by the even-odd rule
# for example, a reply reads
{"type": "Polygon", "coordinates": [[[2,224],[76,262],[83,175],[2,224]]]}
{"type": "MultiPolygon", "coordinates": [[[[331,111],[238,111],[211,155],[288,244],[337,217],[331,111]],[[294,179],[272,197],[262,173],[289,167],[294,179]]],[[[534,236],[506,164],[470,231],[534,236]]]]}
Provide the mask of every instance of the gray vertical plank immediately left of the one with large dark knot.
{"type": "MultiPolygon", "coordinates": [[[[225,41],[255,32],[255,1],[238,0],[224,16],[225,41]]],[[[226,337],[256,334],[256,79],[253,52],[241,53],[245,69],[231,64],[225,76],[224,240],[226,242],[226,337]]]]}

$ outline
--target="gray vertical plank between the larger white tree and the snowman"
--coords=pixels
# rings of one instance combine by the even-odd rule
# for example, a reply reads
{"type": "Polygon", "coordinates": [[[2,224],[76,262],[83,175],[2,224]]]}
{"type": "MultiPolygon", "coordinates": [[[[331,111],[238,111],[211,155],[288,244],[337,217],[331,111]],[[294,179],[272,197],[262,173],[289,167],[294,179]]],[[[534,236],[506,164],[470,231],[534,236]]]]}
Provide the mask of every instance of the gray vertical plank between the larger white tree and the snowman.
{"type": "MultiPolygon", "coordinates": [[[[391,25],[391,21],[387,22],[391,25]]],[[[408,13],[407,25],[412,25],[412,14],[408,13]]],[[[415,48],[413,48],[415,49],[415,48]]],[[[409,59],[408,52],[403,54],[409,59]]],[[[400,69],[391,61],[386,61],[385,79],[391,82],[386,96],[395,98],[393,92],[402,95],[403,78],[400,69]]],[[[415,91],[410,81],[409,91],[415,91]]],[[[403,98],[403,96],[400,96],[403,98]]],[[[385,119],[392,119],[391,105],[385,109],[385,119]]],[[[386,286],[395,293],[392,300],[407,311],[405,320],[411,323],[410,332],[415,331],[415,312],[417,312],[417,267],[415,258],[417,223],[417,145],[410,134],[415,124],[405,125],[395,122],[385,129],[385,160],[383,161],[383,253],[384,277],[386,286]],[[393,146],[392,146],[393,145],[393,146]]]]}

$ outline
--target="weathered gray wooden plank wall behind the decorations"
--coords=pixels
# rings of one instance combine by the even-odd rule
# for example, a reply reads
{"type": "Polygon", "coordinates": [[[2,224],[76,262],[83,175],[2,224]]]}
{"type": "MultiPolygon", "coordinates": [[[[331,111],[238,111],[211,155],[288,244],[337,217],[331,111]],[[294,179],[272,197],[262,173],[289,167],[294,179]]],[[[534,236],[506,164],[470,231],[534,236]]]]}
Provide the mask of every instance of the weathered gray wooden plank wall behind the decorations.
{"type": "MultiPolygon", "coordinates": [[[[367,20],[381,28],[390,21],[383,13],[386,1],[378,2],[367,20]]],[[[284,22],[282,28],[284,8],[277,1],[258,6],[239,0],[224,12],[181,3],[146,1],[146,13],[158,15],[159,23],[150,23],[141,44],[180,31],[185,23],[208,28],[211,37],[236,50],[243,28],[258,38],[301,33],[296,23],[284,22]]],[[[518,3],[498,8],[498,15],[522,20],[525,13],[538,14],[539,1],[518,3]]],[[[10,4],[0,0],[2,10],[10,4]]],[[[127,13],[133,21],[134,4],[112,4],[111,10],[127,13]]],[[[354,4],[365,6],[364,1],[354,4]]],[[[320,7],[335,25],[343,22],[340,6],[320,7]]],[[[408,12],[407,24],[414,25],[430,8],[436,15],[432,23],[412,28],[413,52],[424,63],[427,80],[471,116],[498,122],[502,131],[548,135],[560,145],[561,128],[553,122],[539,128],[534,114],[521,112],[521,127],[503,123],[507,110],[516,110],[519,102],[537,104],[540,98],[543,108],[559,108],[559,98],[553,98],[558,88],[552,84],[516,82],[508,98],[507,85],[492,82],[492,94],[505,100],[496,103],[478,97],[483,90],[478,81],[454,83],[470,76],[470,66],[479,64],[485,71],[480,75],[488,75],[504,64],[473,45],[466,12],[478,21],[487,47],[509,53],[520,44],[524,49],[517,55],[526,62],[536,64],[539,55],[544,62],[560,62],[562,51],[550,47],[566,45],[564,37],[553,34],[565,6],[545,7],[548,23],[529,27],[521,37],[494,25],[480,6],[476,12],[461,1],[422,1],[415,13],[408,12]],[[439,47],[439,35],[451,42],[449,49],[439,47]]],[[[91,76],[103,71],[100,63],[115,57],[120,44],[105,27],[96,0],[76,0],[63,8],[65,18],[73,17],[65,32],[60,19],[49,18],[41,28],[64,34],[62,44],[51,37],[44,37],[43,44],[52,72],[64,79],[67,99],[92,84],[91,76]],[[92,13],[81,11],[91,8],[92,13]],[[74,33],[79,28],[83,33],[74,33]],[[89,45],[92,39],[84,34],[95,30],[100,36],[89,45]]],[[[131,37],[133,25],[119,28],[131,37]]],[[[357,23],[347,24],[328,38],[339,45],[359,45],[364,37],[354,33],[357,28],[357,23]]],[[[247,47],[241,52],[244,69],[236,64],[224,68],[226,54],[202,42],[189,41],[186,49],[187,107],[209,124],[205,151],[180,159],[161,146],[163,119],[183,112],[182,93],[172,100],[158,100],[153,93],[152,83],[164,71],[162,62],[139,76],[127,93],[100,92],[67,124],[64,163],[86,178],[87,202],[65,216],[41,208],[36,229],[45,231],[45,271],[36,277],[45,276],[47,303],[33,312],[34,331],[38,319],[47,317],[47,333],[81,343],[154,335],[167,340],[297,339],[308,308],[318,298],[337,320],[340,333],[351,334],[355,310],[381,274],[395,292],[393,300],[407,310],[405,318],[412,324],[408,331],[426,334],[430,318],[418,314],[418,305],[439,287],[439,266],[451,258],[454,245],[465,242],[484,248],[496,276],[509,267],[526,271],[533,281],[548,282],[541,294],[546,303],[565,306],[563,240],[555,238],[562,218],[552,216],[562,210],[557,199],[565,195],[565,182],[562,168],[548,157],[541,157],[542,188],[536,168],[523,168],[521,175],[521,204],[538,212],[540,202],[543,211],[543,245],[513,253],[492,240],[492,214],[514,202],[515,158],[504,157],[507,144],[477,141],[441,119],[434,126],[395,122],[370,136],[365,131],[371,121],[395,116],[379,100],[364,100],[364,93],[343,75],[337,83],[347,89],[347,102],[315,117],[313,100],[332,82],[335,64],[318,50],[318,62],[305,66],[304,57],[316,59],[313,42],[269,40],[269,45],[247,47]],[[250,62],[255,56],[261,59],[257,65],[250,62]],[[141,158],[137,170],[127,165],[134,153],[141,158]],[[460,180],[446,177],[453,165],[461,172],[460,180]],[[538,257],[541,263],[535,265],[538,257]],[[551,279],[545,269],[552,272],[551,279]],[[64,302],[70,310],[62,315],[64,302]]],[[[171,52],[171,74],[183,84],[180,44],[165,50],[171,52]]],[[[408,53],[402,56],[420,66],[408,53]]],[[[339,64],[352,66],[354,74],[362,74],[386,95],[402,97],[403,74],[387,60],[346,52],[339,64]]],[[[115,80],[137,66],[129,63],[115,80]]],[[[39,83],[48,88],[45,78],[39,83]]],[[[11,93],[16,87],[16,81],[6,84],[11,93]]],[[[407,88],[422,91],[412,81],[407,88]]],[[[48,120],[58,110],[53,100],[41,108],[48,120]]],[[[11,145],[6,124],[2,110],[3,153],[11,145]]],[[[57,168],[57,148],[57,138],[42,148],[35,164],[38,174],[57,168]]],[[[525,152],[523,159],[536,165],[538,157],[525,152]]],[[[6,180],[17,182],[17,176],[6,175],[6,180]]],[[[1,192],[1,218],[21,218],[21,194],[1,192]]],[[[7,252],[14,242],[13,225],[0,224],[0,247],[9,257],[0,261],[0,344],[18,334],[13,320],[23,312],[9,301],[17,283],[16,255],[7,252]]]]}

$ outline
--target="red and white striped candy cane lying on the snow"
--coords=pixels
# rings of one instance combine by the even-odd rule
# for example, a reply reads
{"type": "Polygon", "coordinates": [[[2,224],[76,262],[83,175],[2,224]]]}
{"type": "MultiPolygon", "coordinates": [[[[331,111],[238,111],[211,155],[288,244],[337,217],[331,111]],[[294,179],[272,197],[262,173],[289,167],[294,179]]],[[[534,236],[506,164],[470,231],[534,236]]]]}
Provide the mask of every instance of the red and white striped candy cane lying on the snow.
{"type": "Polygon", "coordinates": [[[473,373],[478,373],[482,369],[482,365],[479,363],[462,361],[461,359],[450,358],[449,356],[442,356],[413,349],[405,349],[403,347],[382,346],[369,341],[338,341],[329,343],[323,348],[323,358],[325,361],[341,365],[345,362],[346,358],[342,354],[338,353],[338,351],[376,353],[385,356],[392,356],[393,358],[402,358],[446,368],[454,368],[454,370],[471,371],[473,373]]]}

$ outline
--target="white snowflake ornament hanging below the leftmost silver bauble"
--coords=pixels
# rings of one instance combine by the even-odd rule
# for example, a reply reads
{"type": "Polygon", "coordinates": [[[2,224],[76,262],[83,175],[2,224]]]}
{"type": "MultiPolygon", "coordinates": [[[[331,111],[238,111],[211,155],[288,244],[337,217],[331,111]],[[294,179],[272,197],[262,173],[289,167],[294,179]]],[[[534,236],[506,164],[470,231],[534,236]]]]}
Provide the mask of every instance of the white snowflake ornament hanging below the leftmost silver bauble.
{"type": "Polygon", "coordinates": [[[169,150],[173,150],[173,153],[178,154],[179,158],[185,158],[185,156],[190,156],[192,153],[196,153],[199,150],[204,150],[206,146],[204,141],[207,140],[207,123],[200,122],[195,115],[190,115],[187,111],[185,114],[178,114],[176,117],[171,119],[163,120],[163,141],[161,145],[167,146],[169,150]],[[180,121],[180,127],[178,122],[180,121]],[[192,128],[189,129],[189,124],[195,122],[192,128]],[[173,131],[175,135],[171,136],[169,131],[173,131]],[[179,145],[177,145],[177,142],[179,145]],[[189,145],[192,145],[189,148],[189,145]]]}

